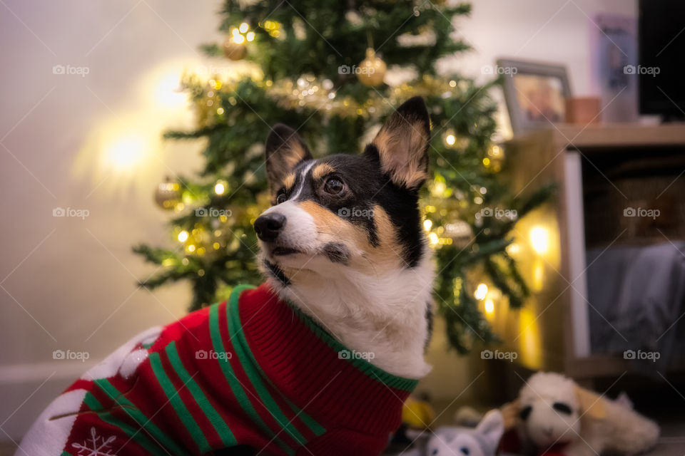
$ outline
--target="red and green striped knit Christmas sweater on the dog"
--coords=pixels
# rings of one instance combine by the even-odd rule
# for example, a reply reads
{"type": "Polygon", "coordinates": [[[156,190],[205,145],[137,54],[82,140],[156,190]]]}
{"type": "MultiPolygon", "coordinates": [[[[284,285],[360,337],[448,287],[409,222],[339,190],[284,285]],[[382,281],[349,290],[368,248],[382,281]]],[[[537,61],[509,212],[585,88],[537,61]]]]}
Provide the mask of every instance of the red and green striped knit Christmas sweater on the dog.
{"type": "Polygon", "coordinates": [[[59,396],[18,455],[377,455],[416,380],[350,356],[263,284],[129,341],[59,396]]]}

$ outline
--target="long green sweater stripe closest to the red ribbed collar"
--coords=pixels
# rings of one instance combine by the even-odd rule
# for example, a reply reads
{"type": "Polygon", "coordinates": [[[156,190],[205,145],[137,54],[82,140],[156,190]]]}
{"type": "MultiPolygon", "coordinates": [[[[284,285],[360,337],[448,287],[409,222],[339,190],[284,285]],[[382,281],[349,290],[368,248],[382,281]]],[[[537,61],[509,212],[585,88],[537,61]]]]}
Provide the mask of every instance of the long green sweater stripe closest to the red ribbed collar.
{"type": "Polygon", "coordinates": [[[269,410],[273,418],[275,418],[278,423],[283,426],[285,432],[299,442],[300,445],[304,445],[306,440],[305,437],[300,434],[297,427],[293,425],[293,420],[288,420],[278,404],[270,395],[266,385],[262,381],[262,373],[255,368],[256,363],[254,361],[254,356],[250,352],[250,347],[248,346],[248,341],[245,339],[245,333],[243,333],[243,328],[240,325],[240,316],[238,315],[238,299],[240,298],[240,293],[245,289],[252,288],[247,285],[236,286],[230,294],[230,303],[226,306],[226,314],[228,317],[228,333],[230,333],[231,338],[237,338],[237,343],[233,344],[235,348],[235,354],[238,355],[241,366],[245,369],[245,373],[248,374],[250,382],[252,382],[257,394],[262,400],[265,407],[269,410]],[[248,354],[249,353],[249,354],[248,354]]]}

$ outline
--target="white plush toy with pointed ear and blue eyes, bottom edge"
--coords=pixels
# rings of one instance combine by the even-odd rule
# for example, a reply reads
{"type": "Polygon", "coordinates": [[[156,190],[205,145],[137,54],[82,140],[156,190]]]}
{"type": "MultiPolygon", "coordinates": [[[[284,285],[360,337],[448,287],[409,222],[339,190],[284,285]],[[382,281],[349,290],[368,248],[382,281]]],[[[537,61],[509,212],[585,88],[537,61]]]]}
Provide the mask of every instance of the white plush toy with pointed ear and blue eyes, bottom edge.
{"type": "Polygon", "coordinates": [[[499,410],[490,410],[473,427],[444,426],[435,432],[422,431],[415,440],[416,449],[403,452],[405,456],[494,456],[499,438],[504,432],[504,420],[499,410]]]}

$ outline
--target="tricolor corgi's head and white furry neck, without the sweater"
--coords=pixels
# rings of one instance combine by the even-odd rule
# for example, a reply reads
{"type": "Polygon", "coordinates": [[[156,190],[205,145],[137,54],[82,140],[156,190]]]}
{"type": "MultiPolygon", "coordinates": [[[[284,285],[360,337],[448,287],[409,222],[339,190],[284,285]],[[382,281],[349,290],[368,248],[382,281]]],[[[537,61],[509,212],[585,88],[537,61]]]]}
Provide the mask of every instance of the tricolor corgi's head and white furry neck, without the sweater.
{"type": "Polygon", "coordinates": [[[360,155],[313,159],[275,125],[266,142],[273,206],[255,220],[260,264],[284,299],[395,375],[421,378],[434,267],[418,207],[430,119],[415,97],[360,155]]]}

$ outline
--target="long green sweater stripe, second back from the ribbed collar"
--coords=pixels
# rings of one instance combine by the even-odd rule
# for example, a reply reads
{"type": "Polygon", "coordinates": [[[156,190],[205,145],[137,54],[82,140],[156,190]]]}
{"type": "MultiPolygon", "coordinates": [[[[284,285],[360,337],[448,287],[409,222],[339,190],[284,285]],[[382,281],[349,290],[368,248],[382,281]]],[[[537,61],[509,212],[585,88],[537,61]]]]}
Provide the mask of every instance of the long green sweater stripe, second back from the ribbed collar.
{"type": "MultiPolygon", "coordinates": [[[[219,330],[218,314],[219,304],[214,304],[209,308],[210,336],[212,338],[212,345],[214,347],[215,353],[225,353],[226,349],[223,345],[223,341],[221,340],[221,333],[219,330]]],[[[281,450],[285,451],[285,453],[288,455],[295,455],[295,451],[293,451],[292,448],[288,447],[288,445],[285,445],[285,442],[283,442],[283,440],[280,440],[278,437],[276,437],[273,430],[271,430],[268,427],[268,425],[264,423],[262,417],[259,415],[259,413],[257,413],[257,410],[255,410],[252,403],[250,402],[250,398],[248,398],[247,393],[245,393],[243,385],[240,385],[240,381],[238,381],[238,378],[235,376],[233,368],[230,366],[230,362],[228,361],[228,359],[226,359],[225,356],[217,356],[217,358],[217,362],[219,363],[221,372],[223,372],[223,375],[226,378],[228,385],[230,386],[230,390],[233,392],[235,400],[238,401],[240,408],[245,410],[245,413],[248,414],[253,423],[258,425],[258,427],[260,427],[260,429],[263,430],[263,432],[265,432],[269,437],[273,438],[273,442],[276,445],[278,445],[278,447],[280,447],[281,450]]]]}

